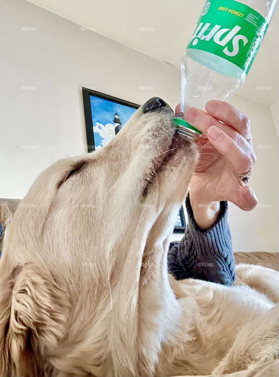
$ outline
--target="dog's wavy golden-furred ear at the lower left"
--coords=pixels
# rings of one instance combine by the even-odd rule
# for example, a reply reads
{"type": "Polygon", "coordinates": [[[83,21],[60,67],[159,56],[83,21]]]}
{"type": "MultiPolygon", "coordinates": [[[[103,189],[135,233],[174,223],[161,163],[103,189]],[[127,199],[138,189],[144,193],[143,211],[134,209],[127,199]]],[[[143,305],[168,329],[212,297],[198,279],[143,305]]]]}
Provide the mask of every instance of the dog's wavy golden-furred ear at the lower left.
{"type": "Polygon", "coordinates": [[[16,267],[0,284],[0,375],[49,375],[47,359],[63,337],[69,301],[35,264],[16,267]]]}

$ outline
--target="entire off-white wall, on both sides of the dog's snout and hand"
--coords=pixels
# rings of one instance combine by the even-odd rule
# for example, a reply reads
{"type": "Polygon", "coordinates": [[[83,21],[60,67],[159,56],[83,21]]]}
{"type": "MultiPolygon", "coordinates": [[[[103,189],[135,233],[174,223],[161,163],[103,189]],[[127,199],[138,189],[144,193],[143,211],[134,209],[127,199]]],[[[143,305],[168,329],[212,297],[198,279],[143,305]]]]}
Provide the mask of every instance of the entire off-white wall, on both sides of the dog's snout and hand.
{"type": "MultiPolygon", "coordinates": [[[[81,86],[139,104],[154,95],[172,107],[180,100],[180,73],[166,63],[23,0],[3,0],[0,14],[2,197],[22,198],[50,163],[85,152],[81,86]]],[[[230,205],[234,248],[278,251],[279,144],[270,109],[238,95],[231,102],[252,121],[258,162],[250,182],[262,204],[248,213],[230,205]]]]}

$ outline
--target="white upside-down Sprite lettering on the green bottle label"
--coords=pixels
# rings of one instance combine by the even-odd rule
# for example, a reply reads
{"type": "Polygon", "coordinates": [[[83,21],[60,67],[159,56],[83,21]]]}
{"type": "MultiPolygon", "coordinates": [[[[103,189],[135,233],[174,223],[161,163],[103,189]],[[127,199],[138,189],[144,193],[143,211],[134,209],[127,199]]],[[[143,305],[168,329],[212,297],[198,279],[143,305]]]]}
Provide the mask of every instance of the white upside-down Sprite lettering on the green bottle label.
{"type": "Polygon", "coordinates": [[[213,38],[213,41],[220,46],[226,46],[223,49],[224,54],[227,56],[236,56],[239,53],[240,43],[244,47],[248,43],[248,38],[245,35],[237,34],[241,30],[241,26],[236,25],[233,29],[220,29],[221,25],[215,25],[211,27],[211,23],[207,22],[203,26],[203,22],[198,25],[194,34],[191,37],[190,43],[196,46],[198,40],[210,41],[213,38]],[[227,46],[230,41],[232,42],[230,46],[227,46]]]}

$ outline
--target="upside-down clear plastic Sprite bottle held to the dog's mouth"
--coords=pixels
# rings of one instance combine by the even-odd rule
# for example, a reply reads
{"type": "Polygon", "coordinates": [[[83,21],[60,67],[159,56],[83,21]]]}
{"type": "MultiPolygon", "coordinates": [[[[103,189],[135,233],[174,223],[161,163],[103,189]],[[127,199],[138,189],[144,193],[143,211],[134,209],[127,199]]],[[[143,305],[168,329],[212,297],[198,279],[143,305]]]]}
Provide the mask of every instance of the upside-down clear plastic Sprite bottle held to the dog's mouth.
{"type": "MultiPolygon", "coordinates": [[[[204,109],[207,101],[227,100],[241,88],[276,2],[211,0],[205,4],[181,59],[181,117],[189,107],[204,109]]],[[[175,118],[175,123],[179,129],[194,129],[181,118],[175,118]]]]}

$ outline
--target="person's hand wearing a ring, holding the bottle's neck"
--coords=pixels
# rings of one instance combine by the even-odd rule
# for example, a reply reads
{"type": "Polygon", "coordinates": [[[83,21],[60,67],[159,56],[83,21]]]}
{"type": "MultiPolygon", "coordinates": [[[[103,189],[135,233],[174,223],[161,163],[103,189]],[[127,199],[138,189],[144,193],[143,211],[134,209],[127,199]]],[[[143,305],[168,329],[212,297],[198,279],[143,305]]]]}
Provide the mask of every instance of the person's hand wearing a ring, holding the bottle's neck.
{"type": "Polygon", "coordinates": [[[186,121],[203,132],[197,140],[200,156],[190,182],[191,205],[208,205],[216,212],[216,202],[227,200],[252,210],[258,199],[234,173],[249,172],[256,161],[250,120],[224,101],[209,101],[205,109],[190,108],[185,113],[186,121]]]}

